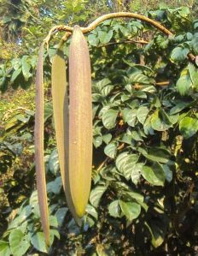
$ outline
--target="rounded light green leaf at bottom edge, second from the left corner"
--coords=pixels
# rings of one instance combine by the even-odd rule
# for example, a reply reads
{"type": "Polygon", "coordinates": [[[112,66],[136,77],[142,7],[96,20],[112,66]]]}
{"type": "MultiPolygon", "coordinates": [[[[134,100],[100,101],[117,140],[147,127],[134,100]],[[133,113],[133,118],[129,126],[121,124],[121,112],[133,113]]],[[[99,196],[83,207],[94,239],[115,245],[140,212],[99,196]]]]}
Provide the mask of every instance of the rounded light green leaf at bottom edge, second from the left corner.
{"type": "Polygon", "coordinates": [[[30,247],[29,236],[24,235],[20,229],[14,229],[9,235],[9,246],[14,256],[22,256],[30,247]]]}

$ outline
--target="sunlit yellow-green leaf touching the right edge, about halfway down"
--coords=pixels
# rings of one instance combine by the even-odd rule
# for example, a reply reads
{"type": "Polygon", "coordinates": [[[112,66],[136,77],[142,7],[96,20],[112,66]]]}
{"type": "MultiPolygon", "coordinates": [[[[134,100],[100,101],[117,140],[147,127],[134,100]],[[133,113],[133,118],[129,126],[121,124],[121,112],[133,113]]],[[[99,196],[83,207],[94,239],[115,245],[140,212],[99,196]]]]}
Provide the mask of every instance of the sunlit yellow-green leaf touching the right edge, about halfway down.
{"type": "Polygon", "coordinates": [[[198,131],[198,118],[184,117],[179,122],[179,130],[185,139],[189,139],[198,131]]]}

